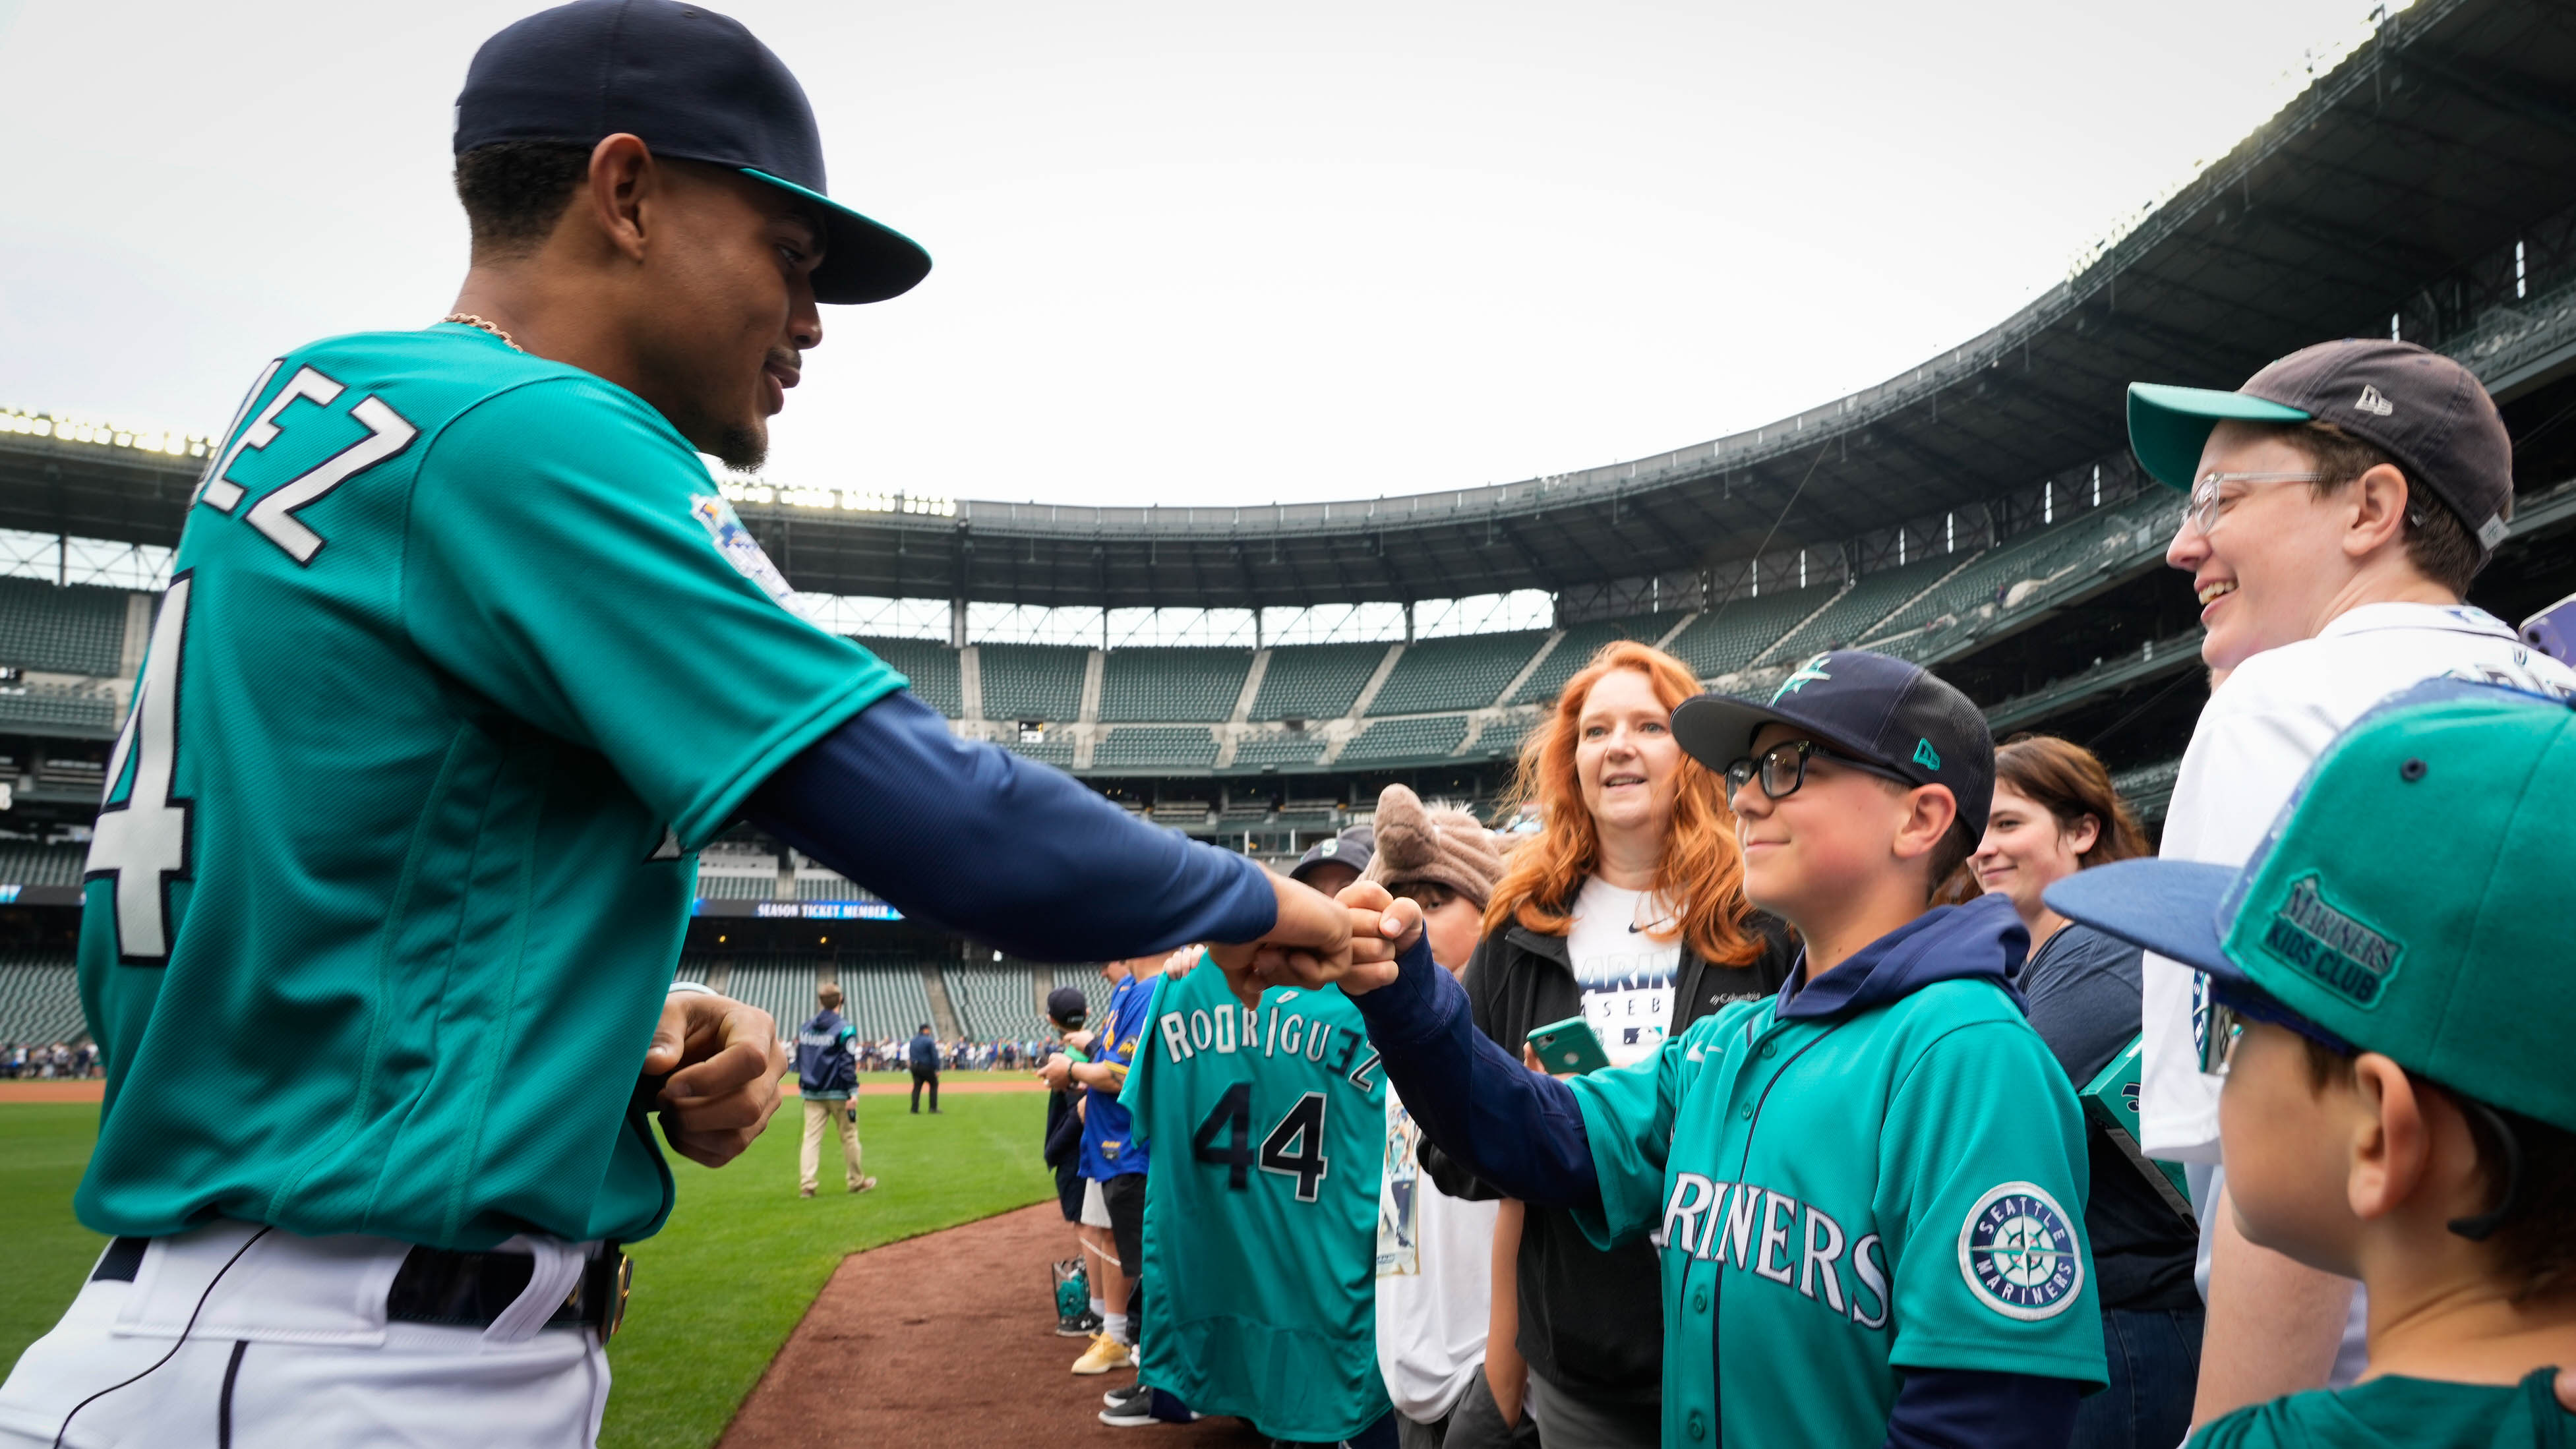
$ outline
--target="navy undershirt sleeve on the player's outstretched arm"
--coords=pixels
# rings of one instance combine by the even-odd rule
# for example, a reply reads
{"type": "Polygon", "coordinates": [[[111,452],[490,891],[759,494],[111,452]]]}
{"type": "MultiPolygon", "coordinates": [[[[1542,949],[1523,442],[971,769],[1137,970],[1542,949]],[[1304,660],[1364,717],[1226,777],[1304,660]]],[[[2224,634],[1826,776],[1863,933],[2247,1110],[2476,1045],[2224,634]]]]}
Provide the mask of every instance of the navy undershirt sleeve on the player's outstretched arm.
{"type": "Polygon", "coordinates": [[[1278,921],[1252,860],[1149,826],[1061,770],[958,739],[912,692],[781,764],[744,813],[907,916],[1030,960],[1249,942],[1278,921]]]}

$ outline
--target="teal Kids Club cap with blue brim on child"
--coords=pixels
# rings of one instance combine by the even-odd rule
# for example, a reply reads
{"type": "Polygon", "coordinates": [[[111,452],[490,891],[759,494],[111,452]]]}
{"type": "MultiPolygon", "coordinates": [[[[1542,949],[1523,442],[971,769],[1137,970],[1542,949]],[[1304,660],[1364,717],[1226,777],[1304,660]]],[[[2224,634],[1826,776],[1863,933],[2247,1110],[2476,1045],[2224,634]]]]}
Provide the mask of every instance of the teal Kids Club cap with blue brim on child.
{"type": "Polygon", "coordinates": [[[2123,860],[2045,901],[2246,1017],[2576,1130],[2568,821],[2576,708],[2434,679],[2354,721],[2241,870],[2123,860]]]}

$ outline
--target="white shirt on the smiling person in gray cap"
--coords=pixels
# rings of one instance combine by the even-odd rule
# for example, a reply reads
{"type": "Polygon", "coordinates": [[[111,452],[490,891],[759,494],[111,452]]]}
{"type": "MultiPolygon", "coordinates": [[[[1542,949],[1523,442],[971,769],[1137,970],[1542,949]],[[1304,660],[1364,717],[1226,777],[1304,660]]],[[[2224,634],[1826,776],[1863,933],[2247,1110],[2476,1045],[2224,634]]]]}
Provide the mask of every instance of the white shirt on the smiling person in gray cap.
{"type": "MultiPolygon", "coordinates": [[[[2228,674],[2182,752],[2159,854],[2244,865],[2334,736],[2388,695],[2439,677],[2576,692],[2576,672],[2486,610],[2362,605],[2228,674]]],[[[2200,1073],[2195,1035],[2200,981],[2146,957],[2138,1140],[2148,1156],[2184,1163],[2218,1161],[2218,1078],[2200,1073]]]]}

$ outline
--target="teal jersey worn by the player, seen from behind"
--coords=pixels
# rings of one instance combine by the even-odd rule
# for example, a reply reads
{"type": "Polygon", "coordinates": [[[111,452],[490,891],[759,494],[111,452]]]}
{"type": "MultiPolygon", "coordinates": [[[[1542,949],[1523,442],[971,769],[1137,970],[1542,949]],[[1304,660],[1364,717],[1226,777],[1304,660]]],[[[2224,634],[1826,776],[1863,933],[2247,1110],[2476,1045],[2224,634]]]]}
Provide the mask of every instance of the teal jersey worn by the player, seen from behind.
{"type": "Polygon", "coordinates": [[[108,764],[100,1233],[641,1238],[696,849],[904,679],[783,607],[639,396],[471,327],[314,342],[198,481],[108,764]]]}

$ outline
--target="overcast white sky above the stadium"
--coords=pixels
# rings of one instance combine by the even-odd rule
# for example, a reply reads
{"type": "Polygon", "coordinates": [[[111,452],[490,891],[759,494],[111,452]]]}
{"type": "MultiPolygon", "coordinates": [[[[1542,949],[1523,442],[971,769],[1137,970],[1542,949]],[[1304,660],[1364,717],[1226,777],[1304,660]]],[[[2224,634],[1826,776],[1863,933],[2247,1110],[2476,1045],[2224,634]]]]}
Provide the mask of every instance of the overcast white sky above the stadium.
{"type": "MultiPolygon", "coordinates": [[[[440,317],[456,85],[531,8],[0,0],[0,404],[214,430],[278,350],[440,317]]],[[[1875,383],[2370,10],[719,8],[804,80],[832,193],[938,260],[824,309],[770,476],[1118,504],[1510,481],[1875,383]]]]}

